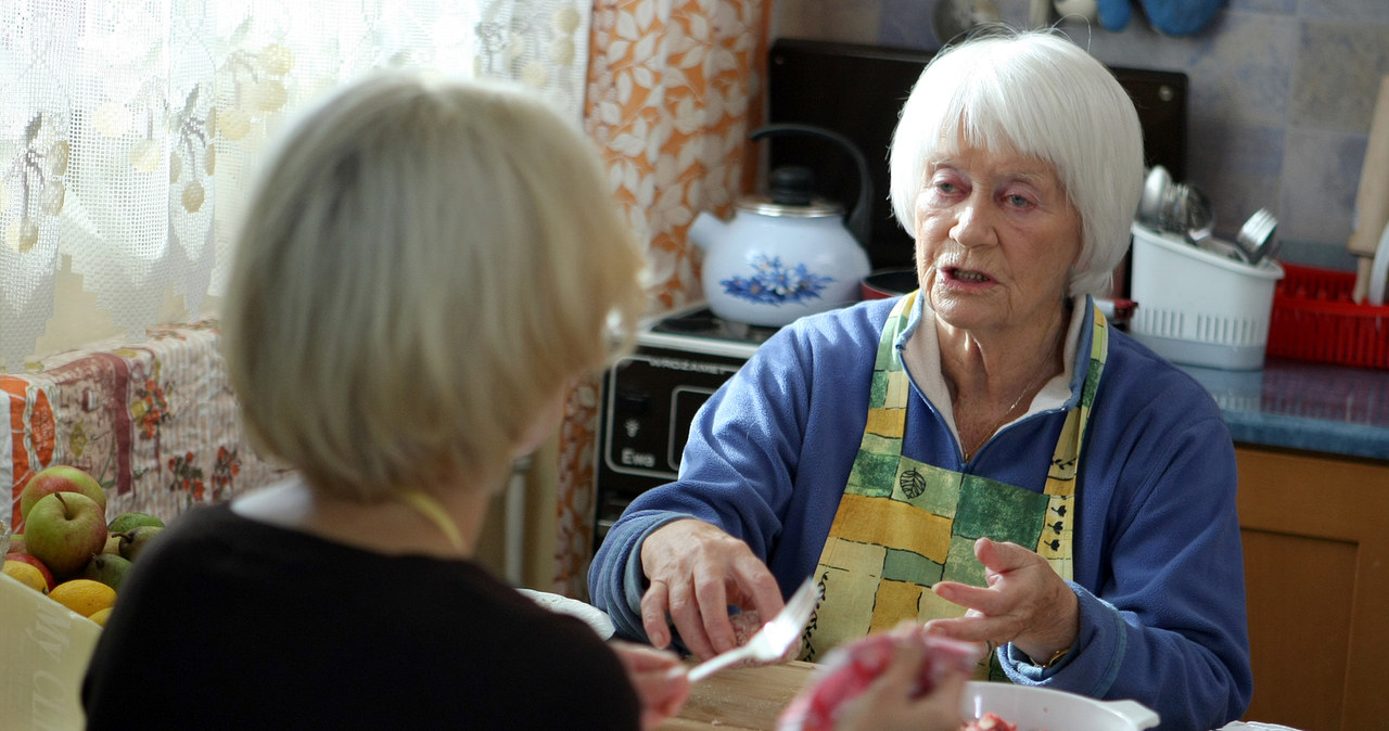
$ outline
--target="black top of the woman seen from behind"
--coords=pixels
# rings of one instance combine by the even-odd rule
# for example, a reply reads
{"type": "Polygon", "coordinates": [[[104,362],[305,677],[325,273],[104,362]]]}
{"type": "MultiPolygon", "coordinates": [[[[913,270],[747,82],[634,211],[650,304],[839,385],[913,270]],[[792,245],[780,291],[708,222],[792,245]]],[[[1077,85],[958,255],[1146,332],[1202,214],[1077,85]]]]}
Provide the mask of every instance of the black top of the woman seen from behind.
{"type": "Polygon", "coordinates": [[[82,688],[89,728],[638,728],[607,645],[469,562],[194,508],[142,553],[82,688]]]}

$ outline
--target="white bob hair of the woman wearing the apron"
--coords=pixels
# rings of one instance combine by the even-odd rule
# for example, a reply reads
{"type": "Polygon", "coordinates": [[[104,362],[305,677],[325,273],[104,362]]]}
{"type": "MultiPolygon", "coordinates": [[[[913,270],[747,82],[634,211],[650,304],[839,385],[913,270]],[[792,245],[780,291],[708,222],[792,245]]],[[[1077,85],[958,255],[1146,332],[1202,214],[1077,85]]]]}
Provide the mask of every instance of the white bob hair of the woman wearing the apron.
{"type": "Polygon", "coordinates": [[[1056,172],[1082,222],[1068,293],[1108,293],[1143,191],[1143,132],[1114,74],[1054,29],[995,29],[942,50],[907,97],[889,154],[893,214],[913,237],[925,171],[961,140],[1056,172]]]}

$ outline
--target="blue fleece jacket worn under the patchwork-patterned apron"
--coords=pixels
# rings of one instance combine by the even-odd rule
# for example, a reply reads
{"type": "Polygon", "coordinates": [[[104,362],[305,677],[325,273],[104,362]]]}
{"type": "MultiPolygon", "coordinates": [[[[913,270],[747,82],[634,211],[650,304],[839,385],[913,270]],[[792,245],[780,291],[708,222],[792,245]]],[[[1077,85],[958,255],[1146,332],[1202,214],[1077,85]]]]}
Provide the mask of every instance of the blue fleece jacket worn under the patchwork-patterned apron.
{"type": "MultiPolygon", "coordinates": [[[[590,567],[590,599],[619,637],[646,639],[640,544],[672,520],[696,517],[742,538],[783,594],[814,571],[863,436],[892,305],[861,302],[782,327],[700,409],[679,479],[633,501],[590,567]]],[[[921,318],[918,307],[899,350],[921,318]]],[[[913,379],[903,454],[1040,492],[1089,369],[1090,318],[1086,308],[1063,406],[1004,427],[965,463],[913,379]]],[[[1215,402],[1111,327],[1076,472],[1076,649],[1043,670],[1006,645],[999,652],[1008,677],[1135,699],[1161,716],[1164,730],[1210,730],[1238,719],[1253,677],[1235,452],[1215,402]]]]}

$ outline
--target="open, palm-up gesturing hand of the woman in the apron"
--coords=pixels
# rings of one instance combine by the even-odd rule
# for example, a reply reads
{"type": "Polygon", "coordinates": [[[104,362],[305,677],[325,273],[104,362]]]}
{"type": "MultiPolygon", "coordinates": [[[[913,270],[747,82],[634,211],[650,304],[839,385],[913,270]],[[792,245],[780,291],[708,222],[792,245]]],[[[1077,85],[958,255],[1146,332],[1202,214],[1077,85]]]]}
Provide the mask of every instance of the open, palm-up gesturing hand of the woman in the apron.
{"type": "Polygon", "coordinates": [[[988,587],[940,581],[932,591],[968,609],[963,617],[931,620],[926,631],[1013,646],[1036,663],[1071,648],[1079,634],[1081,605],[1071,587],[1046,559],[1017,544],[979,538],[974,555],[988,587]]]}

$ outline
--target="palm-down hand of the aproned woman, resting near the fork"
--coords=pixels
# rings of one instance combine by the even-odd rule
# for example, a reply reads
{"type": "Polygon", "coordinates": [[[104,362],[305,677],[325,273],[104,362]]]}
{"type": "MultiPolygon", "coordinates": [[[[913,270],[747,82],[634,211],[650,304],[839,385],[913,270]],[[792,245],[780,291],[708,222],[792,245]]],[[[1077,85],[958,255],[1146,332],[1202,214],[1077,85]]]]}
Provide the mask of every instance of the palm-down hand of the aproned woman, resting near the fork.
{"type": "Polygon", "coordinates": [[[703,520],[676,520],[647,535],[642,570],[651,584],[642,595],[647,639],[669,645],[674,621],[685,646],[704,660],[736,646],[729,606],[771,619],[783,603],[776,578],[747,544],[703,520]]]}

